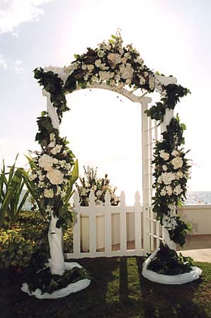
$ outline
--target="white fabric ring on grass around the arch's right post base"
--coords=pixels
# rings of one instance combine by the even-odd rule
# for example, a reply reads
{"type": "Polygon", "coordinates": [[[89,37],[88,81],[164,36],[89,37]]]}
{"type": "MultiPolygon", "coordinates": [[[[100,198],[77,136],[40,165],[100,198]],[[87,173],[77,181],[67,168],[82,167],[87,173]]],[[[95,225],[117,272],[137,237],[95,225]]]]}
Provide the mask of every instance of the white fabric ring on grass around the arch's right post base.
{"type": "Polygon", "coordinates": [[[155,283],[161,283],[166,285],[181,285],[185,283],[189,283],[190,281],[195,281],[198,279],[203,272],[201,269],[199,269],[196,266],[192,267],[192,271],[189,273],[183,273],[179,275],[162,275],[159,273],[156,273],[155,271],[149,271],[147,269],[147,266],[149,265],[150,261],[155,257],[156,253],[159,249],[157,249],[146,261],[144,261],[144,264],[142,266],[142,275],[149,279],[149,281],[154,281],[155,283]]]}

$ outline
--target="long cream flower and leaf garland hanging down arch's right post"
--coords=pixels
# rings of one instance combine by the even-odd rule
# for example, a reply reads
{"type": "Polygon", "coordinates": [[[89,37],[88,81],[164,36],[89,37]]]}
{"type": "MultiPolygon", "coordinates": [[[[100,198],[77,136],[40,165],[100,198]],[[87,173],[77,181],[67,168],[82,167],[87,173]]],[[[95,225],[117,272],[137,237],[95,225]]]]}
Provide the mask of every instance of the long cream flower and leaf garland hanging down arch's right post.
{"type": "Polygon", "coordinates": [[[173,117],[162,133],[162,141],[157,141],[154,148],[154,184],[156,189],[153,200],[153,211],[157,219],[169,231],[173,242],[183,246],[186,235],[191,229],[190,224],[181,220],[177,214],[177,207],[186,200],[187,181],[190,177],[190,160],[182,145],[184,143],[184,124],[179,118],[173,117]]]}

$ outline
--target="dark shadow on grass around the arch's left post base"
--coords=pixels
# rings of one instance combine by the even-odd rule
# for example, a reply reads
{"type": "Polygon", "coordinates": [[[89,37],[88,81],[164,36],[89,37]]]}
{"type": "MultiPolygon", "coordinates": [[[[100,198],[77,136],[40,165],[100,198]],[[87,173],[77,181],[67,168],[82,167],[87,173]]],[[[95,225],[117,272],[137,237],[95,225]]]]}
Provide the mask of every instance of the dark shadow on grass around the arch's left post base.
{"type": "Polygon", "coordinates": [[[112,272],[119,266],[119,261],[105,258],[72,261],[77,261],[91,273],[91,284],[88,288],[57,300],[38,300],[21,291],[23,283],[21,274],[13,273],[13,278],[4,280],[4,286],[0,285],[0,317],[99,317],[99,310],[106,307],[108,283],[113,281],[112,272]]]}

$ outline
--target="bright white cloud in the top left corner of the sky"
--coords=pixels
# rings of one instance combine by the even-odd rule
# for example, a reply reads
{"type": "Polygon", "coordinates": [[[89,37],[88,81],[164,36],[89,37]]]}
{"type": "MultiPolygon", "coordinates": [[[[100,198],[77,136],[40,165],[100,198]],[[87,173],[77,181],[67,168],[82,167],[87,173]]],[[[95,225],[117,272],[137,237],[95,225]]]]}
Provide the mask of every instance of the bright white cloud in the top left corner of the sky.
{"type": "Polygon", "coordinates": [[[0,1],[0,33],[13,33],[22,22],[35,20],[43,16],[39,8],[52,0],[1,0],[0,1]]]}

